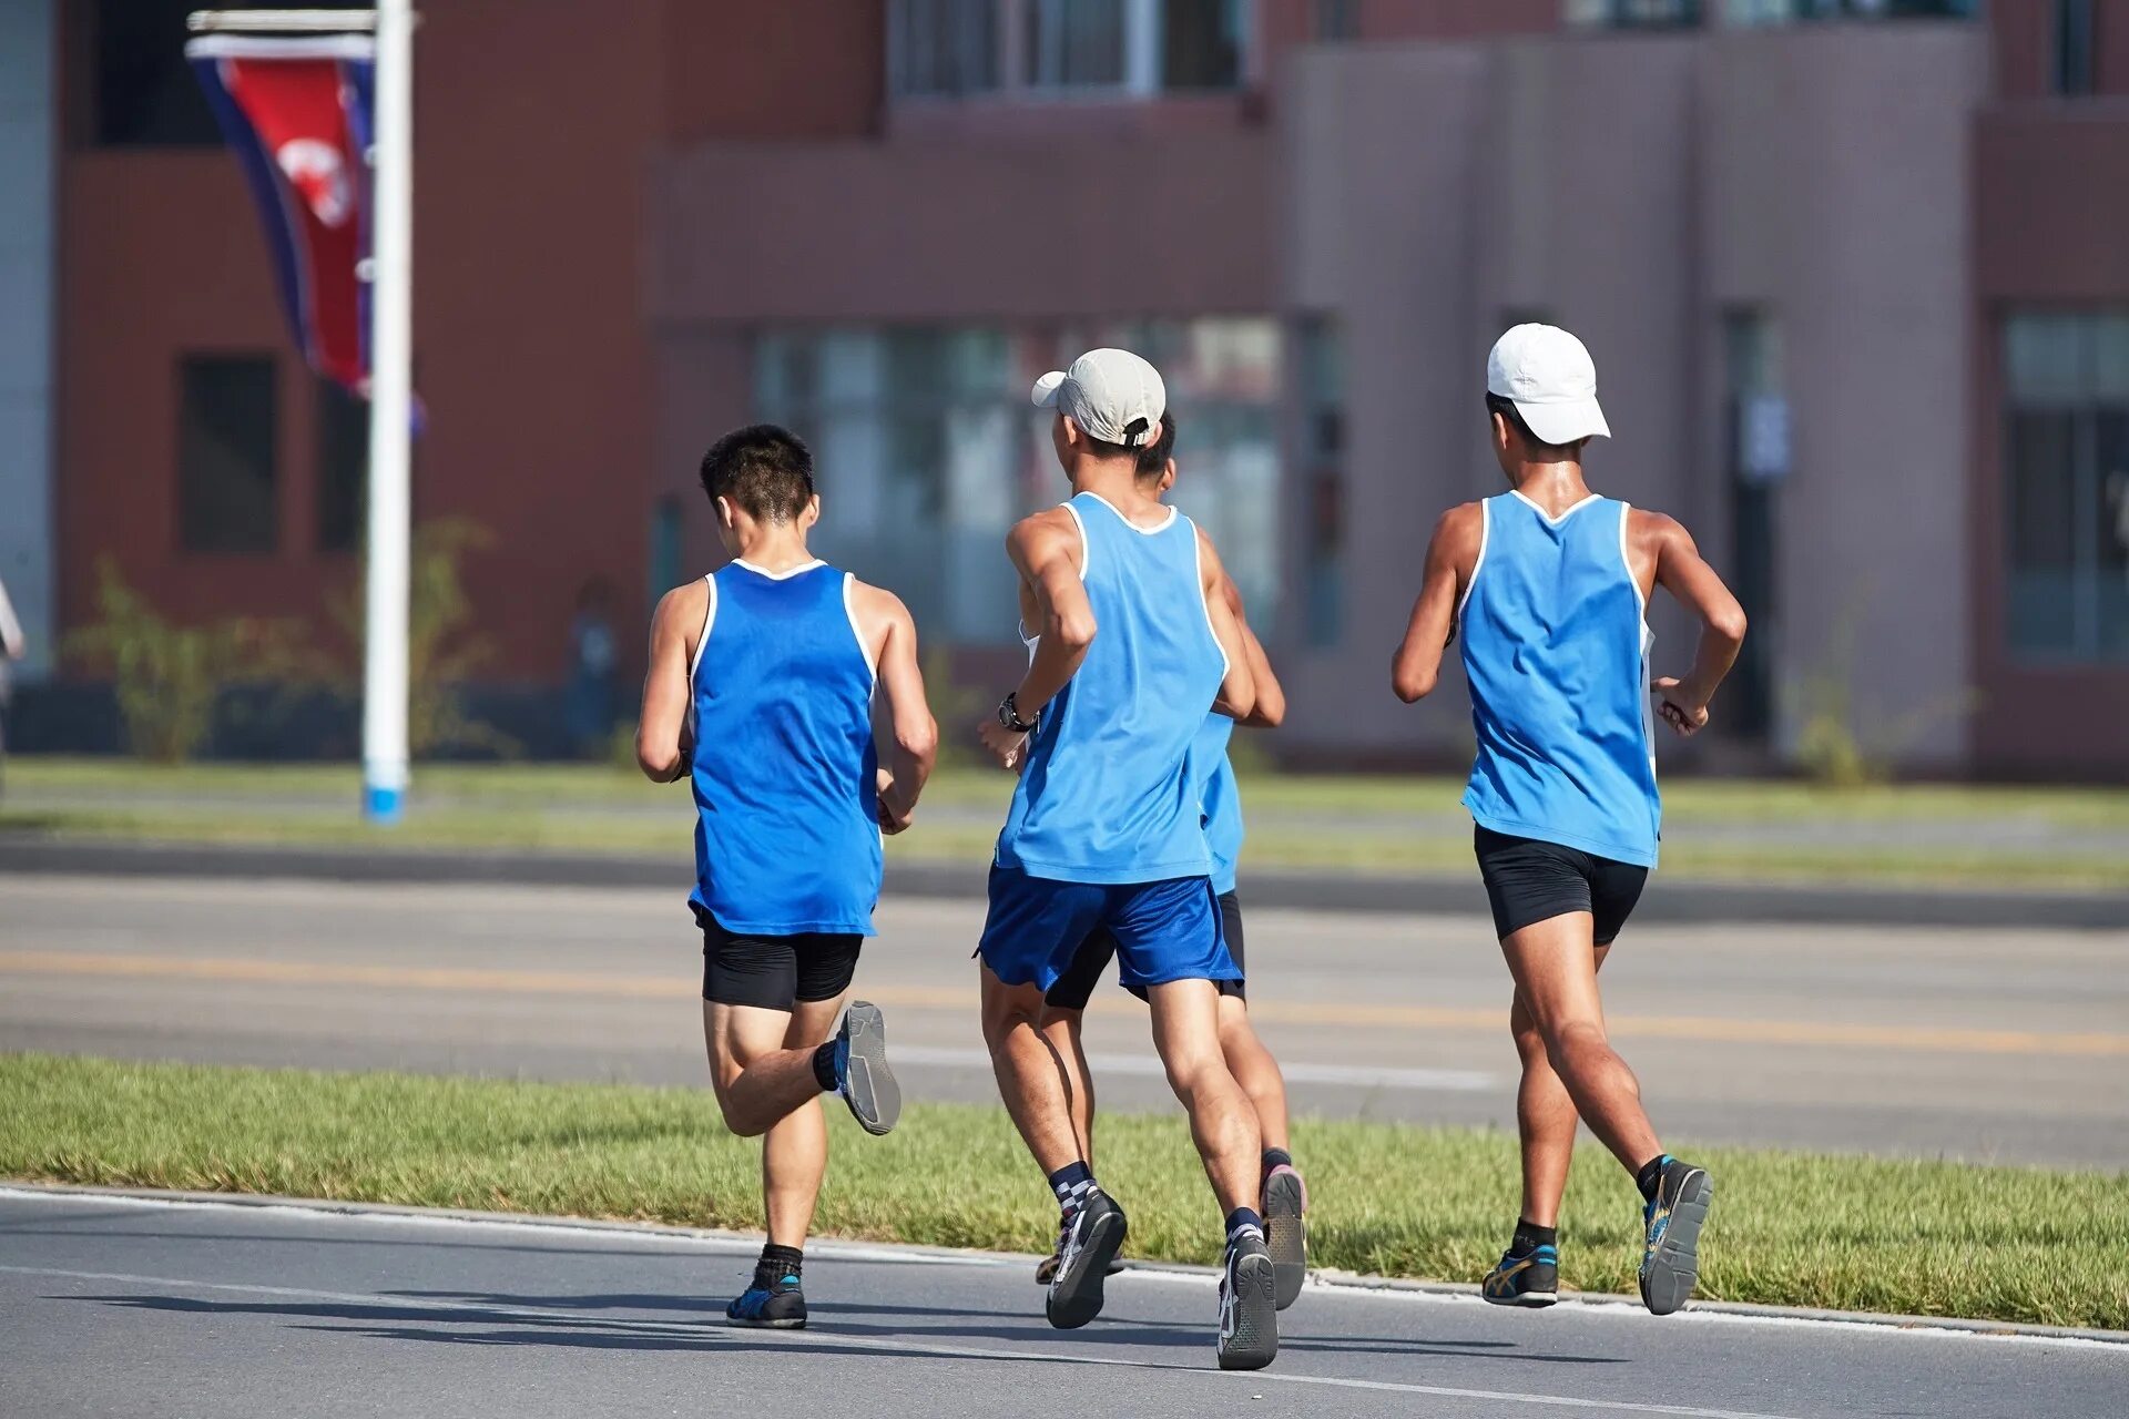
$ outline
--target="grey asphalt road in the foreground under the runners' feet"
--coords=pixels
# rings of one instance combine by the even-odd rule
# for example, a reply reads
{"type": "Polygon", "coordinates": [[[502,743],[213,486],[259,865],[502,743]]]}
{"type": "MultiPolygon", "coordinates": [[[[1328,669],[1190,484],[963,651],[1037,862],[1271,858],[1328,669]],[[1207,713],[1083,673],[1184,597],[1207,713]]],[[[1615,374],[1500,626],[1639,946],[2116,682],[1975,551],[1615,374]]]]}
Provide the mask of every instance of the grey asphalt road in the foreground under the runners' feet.
{"type": "Polygon", "coordinates": [[[756,1242],[0,1193],[9,1415],[2118,1415],[2129,1347],[1314,1285],[1214,1368],[1203,1274],[1090,1328],[1033,1259],[815,1245],[805,1332],[735,1330],[756,1242]]]}

